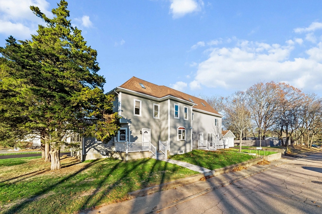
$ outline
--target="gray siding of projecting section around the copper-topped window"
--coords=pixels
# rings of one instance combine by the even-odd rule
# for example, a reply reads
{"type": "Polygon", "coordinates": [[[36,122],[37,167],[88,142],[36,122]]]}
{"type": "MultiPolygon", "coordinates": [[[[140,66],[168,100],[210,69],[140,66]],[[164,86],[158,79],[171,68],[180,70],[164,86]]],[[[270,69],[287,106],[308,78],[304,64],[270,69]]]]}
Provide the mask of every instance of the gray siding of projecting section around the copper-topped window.
{"type": "Polygon", "coordinates": [[[191,151],[191,106],[170,99],[170,152],[171,154],[179,153],[179,150],[184,152],[191,151]],[[179,104],[179,119],[175,118],[175,106],[179,104]],[[188,120],[184,120],[184,106],[188,107],[188,120]],[[178,127],[185,127],[186,140],[178,141],[178,127]]]}

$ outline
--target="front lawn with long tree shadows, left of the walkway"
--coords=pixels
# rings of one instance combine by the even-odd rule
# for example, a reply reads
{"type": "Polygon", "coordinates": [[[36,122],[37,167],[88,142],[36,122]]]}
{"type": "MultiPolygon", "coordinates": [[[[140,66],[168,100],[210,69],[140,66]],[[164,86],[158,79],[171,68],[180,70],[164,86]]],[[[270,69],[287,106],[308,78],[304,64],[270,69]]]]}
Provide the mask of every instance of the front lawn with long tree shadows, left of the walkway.
{"type": "Polygon", "coordinates": [[[151,158],[61,161],[63,168],[52,172],[40,157],[0,159],[0,213],[77,213],[125,201],[128,192],[198,174],[151,158]]]}

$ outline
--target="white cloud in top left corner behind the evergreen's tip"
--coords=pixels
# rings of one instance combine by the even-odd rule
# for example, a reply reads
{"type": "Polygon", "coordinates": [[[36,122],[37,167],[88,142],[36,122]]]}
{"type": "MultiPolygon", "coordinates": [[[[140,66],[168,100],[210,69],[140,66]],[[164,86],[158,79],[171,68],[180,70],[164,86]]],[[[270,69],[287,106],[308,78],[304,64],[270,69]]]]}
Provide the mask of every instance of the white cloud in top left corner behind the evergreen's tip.
{"type": "Polygon", "coordinates": [[[30,34],[35,34],[38,24],[43,24],[41,18],[30,10],[30,6],[37,6],[49,18],[53,15],[48,11],[49,2],[40,0],[1,1],[0,7],[0,33],[17,39],[29,39],[30,34]]]}

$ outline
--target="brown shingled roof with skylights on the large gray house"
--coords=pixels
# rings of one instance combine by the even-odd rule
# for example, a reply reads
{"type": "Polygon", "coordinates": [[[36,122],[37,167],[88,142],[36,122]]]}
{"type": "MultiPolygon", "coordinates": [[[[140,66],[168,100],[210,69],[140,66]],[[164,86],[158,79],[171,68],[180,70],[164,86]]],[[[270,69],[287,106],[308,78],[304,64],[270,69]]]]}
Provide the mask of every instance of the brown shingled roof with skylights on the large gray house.
{"type": "Polygon", "coordinates": [[[133,90],[139,93],[147,94],[157,98],[162,98],[162,97],[171,95],[176,98],[184,99],[186,101],[191,102],[191,100],[189,100],[190,98],[193,100],[195,104],[197,104],[197,106],[194,106],[194,108],[220,115],[215,109],[213,109],[213,107],[211,107],[203,99],[191,96],[189,94],[185,94],[181,91],[174,90],[164,85],[156,85],[151,82],[138,79],[136,77],[132,77],[131,79],[123,83],[120,87],[128,90],[133,90]],[[142,88],[139,83],[143,84],[145,89],[142,88]],[[201,102],[203,102],[205,106],[202,105],[201,102]]]}

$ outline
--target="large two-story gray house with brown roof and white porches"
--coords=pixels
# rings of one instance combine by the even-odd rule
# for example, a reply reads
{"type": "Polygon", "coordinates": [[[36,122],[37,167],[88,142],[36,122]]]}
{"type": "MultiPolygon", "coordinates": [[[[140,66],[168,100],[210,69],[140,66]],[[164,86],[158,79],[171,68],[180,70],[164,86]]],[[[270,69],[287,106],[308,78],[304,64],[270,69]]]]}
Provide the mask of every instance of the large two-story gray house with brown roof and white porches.
{"type": "Polygon", "coordinates": [[[84,137],[83,160],[160,158],[223,148],[223,116],[203,99],[136,77],[108,94],[115,95],[113,111],[121,116],[121,128],[107,143],[84,137]]]}

